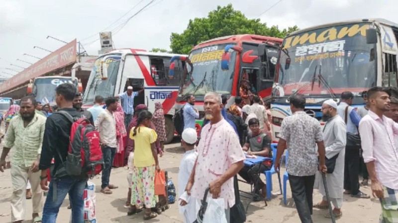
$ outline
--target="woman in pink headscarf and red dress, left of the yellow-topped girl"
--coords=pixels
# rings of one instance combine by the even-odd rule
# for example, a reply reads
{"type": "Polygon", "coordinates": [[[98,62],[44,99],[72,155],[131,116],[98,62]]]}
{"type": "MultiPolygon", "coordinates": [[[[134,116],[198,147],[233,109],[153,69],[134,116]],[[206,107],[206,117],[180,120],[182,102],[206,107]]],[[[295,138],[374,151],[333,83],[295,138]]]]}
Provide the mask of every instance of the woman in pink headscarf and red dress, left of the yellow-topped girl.
{"type": "Polygon", "coordinates": [[[114,112],[114,116],[116,123],[117,151],[112,166],[124,167],[124,141],[127,136],[127,131],[124,126],[124,111],[120,104],[117,105],[117,110],[114,112]]]}

